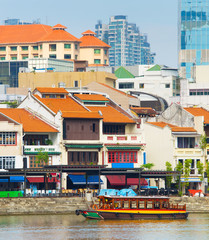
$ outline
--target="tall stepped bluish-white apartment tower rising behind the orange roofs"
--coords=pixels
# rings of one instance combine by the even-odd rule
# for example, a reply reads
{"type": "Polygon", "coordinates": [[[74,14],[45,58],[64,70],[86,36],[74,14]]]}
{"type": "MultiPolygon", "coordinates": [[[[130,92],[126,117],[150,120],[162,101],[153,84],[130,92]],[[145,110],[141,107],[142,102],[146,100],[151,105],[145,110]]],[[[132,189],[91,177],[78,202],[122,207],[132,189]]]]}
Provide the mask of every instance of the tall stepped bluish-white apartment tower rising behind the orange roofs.
{"type": "Polygon", "coordinates": [[[110,66],[154,63],[154,54],[150,51],[146,35],[140,33],[136,24],[128,23],[126,16],[113,16],[109,24],[99,21],[95,25],[95,32],[99,39],[111,46],[110,66]]]}

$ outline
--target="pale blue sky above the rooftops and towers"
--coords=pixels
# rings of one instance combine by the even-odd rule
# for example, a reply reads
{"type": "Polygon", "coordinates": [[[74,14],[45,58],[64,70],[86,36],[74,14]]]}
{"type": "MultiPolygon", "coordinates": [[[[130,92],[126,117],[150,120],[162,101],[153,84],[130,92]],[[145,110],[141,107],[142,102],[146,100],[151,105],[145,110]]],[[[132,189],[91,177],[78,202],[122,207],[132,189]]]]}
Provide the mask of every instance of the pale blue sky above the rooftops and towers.
{"type": "Polygon", "coordinates": [[[115,15],[126,15],[148,36],[155,63],[177,68],[177,0],[0,0],[0,23],[8,18],[40,19],[42,24],[60,23],[77,38],[98,20],[109,23],[115,15]]]}

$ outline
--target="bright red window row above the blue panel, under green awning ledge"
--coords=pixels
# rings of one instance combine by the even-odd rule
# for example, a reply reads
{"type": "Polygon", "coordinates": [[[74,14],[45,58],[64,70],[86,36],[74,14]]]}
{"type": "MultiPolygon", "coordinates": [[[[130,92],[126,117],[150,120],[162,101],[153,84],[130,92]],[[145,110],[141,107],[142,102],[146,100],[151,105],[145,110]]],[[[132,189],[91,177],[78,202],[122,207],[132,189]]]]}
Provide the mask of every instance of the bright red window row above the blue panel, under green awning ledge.
{"type": "Polygon", "coordinates": [[[137,163],[137,152],[108,151],[108,163],[137,163]]]}

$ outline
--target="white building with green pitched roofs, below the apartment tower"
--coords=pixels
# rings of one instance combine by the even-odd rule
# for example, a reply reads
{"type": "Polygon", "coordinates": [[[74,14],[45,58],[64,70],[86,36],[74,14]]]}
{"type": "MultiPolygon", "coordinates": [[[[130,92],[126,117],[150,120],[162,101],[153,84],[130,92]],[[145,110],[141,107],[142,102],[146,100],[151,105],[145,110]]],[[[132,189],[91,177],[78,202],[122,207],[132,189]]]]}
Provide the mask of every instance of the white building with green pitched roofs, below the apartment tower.
{"type": "Polygon", "coordinates": [[[121,67],[115,71],[115,75],[118,77],[116,88],[124,92],[148,93],[162,97],[167,102],[170,101],[170,97],[180,93],[177,69],[155,65],[144,71],[143,75],[135,77],[121,67]]]}

